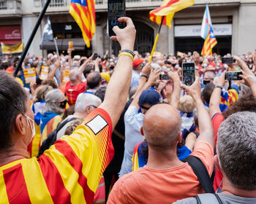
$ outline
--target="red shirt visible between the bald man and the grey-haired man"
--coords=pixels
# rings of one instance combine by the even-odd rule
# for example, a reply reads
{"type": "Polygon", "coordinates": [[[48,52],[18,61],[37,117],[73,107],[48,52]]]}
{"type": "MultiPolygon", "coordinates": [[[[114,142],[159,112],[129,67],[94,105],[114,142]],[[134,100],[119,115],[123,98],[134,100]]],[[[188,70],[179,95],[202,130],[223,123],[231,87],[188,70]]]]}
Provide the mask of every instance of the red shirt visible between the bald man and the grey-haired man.
{"type": "MultiPolygon", "coordinates": [[[[215,114],[214,117],[212,117],[211,122],[214,126],[214,143],[215,146],[217,144],[217,134],[219,130],[219,126],[222,124],[224,120],[224,117],[221,113],[215,114]]],[[[214,176],[214,189],[217,190],[219,187],[219,184],[222,182],[222,173],[215,168],[215,176],[214,176]]]]}

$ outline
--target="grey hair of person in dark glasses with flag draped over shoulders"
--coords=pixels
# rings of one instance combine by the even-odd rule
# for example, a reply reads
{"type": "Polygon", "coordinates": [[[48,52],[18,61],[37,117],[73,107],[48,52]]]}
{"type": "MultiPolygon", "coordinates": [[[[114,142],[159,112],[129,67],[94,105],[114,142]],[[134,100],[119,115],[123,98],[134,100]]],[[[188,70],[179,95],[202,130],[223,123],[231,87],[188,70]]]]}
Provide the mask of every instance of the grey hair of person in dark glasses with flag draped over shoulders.
{"type": "Polygon", "coordinates": [[[64,94],[59,89],[53,89],[50,90],[45,95],[45,106],[42,110],[42,114],[45,114],[45,112],[50,111],[56,114],[62,114],[63,109],[59,107],[56,103],[64,101],[65,97],[64,94]]]}

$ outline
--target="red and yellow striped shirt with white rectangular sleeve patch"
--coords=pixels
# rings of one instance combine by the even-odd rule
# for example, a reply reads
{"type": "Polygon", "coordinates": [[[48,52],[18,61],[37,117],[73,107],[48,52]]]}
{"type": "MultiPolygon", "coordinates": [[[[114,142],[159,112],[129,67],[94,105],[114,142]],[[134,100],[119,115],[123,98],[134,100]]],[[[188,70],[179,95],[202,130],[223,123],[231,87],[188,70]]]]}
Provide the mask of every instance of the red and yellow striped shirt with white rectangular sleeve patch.
{"type": "Polygon", "coordinates": [[[93,203],[100,176],[113,158],[112,123],[95,109],[71,136],[37,160],[0,167],[0,203],[93,203]]]}

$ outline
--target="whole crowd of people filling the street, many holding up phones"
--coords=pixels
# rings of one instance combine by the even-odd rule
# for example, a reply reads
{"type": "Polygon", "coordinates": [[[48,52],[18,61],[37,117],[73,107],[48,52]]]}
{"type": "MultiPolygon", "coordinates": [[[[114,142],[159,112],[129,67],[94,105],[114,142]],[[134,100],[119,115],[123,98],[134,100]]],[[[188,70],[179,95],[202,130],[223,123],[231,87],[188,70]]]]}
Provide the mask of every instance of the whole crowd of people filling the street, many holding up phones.
{"type": "Polygon", "coordinates": [[[150,62],[119,20],[118,56],[1,58],[0,203],[256,203],[256,53],[150,62]]]}

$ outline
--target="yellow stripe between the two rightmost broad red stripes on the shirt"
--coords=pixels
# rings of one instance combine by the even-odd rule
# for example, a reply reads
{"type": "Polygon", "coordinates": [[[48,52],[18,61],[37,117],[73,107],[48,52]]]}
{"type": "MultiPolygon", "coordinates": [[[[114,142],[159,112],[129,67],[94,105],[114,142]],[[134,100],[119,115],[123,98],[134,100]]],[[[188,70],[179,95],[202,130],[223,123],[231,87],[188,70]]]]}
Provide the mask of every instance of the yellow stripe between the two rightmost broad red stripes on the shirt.
{"type": "Polygon", "coordinates": [[[51,152],[45,152],[46,155],[50,157],[50,160],[54,161],[56,168],[59,170],[62,181],[65,188],[70,194],[71,203],[86,203],[86,200],[83,195],[83,188],[78,184],[78,173],[72,168],[72,165],[66,160],[65,157],[61,156],[62,154],[56,150],[55,146],[51,147],[51,152]]]}

